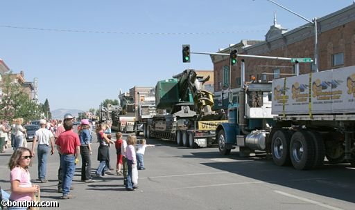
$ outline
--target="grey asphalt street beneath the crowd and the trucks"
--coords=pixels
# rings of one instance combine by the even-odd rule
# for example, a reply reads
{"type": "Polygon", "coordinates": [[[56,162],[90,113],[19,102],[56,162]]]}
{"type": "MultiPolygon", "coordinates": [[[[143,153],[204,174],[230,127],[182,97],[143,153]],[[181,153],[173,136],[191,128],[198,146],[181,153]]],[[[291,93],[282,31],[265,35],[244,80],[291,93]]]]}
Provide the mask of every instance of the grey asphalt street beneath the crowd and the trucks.
{"type": "MultiPolygon", "coordinates": [[[[355,209],[355,170],[349,164],[324,164],[315,171],[279,167],[265,154],[239,158],[222,156],[218,148],[186,149],[173,142],[148,140],[146,170],[139,171],[139,189],[125,191],[123,178],[107,175],[94,183],[80,182],[76,168],[72,191],[76,198],[60,200],[57,192],[58,153],[49,157],[47,183],[36,183],[37,159],[31,167],[42,200],[56,200],[59,209],[355,209]]],[[[31,146],[31,144],[29,144],[31,146]]],[[[98,166],[94,139],[92,172],[98,166]]],[[[10,189],[6,164],[11,150],[0,154],[0,182],[10,189]]],[[[111,164],[116,153],[110,149],[111,164]]],[[[42,208],[44,209],[44,208],[42,208]]],[[[53,209],[53,208],[46,208],[53,209]]]]}

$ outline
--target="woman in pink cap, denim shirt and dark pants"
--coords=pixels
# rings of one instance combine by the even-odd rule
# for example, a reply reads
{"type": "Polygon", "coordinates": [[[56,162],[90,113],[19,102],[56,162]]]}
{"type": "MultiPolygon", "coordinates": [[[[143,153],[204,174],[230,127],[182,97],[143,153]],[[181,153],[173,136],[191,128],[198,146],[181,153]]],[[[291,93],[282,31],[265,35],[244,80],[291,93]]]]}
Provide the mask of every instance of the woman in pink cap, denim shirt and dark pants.
{"type": "Polygon", "coordinates": [[[81,120],[81,126],[79,131],[80,138],[80,154],[81,154],[81,180],[83,182],[94,182],[92,180],[92,134],[89,131],[90,123],[89,120],[81,120]]]}

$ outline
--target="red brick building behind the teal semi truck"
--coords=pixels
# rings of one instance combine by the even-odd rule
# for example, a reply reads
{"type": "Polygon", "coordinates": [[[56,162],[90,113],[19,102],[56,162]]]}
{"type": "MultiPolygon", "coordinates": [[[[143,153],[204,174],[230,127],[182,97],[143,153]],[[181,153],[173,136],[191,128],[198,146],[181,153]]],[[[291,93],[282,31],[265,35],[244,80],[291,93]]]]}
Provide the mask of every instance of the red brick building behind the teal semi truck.
{"type": "MultiPolygon", "coordinates": [[[[355,65],[355,3],[321,17],[318,23],[318,69],[329,70],[355,65]]],[[[287,31],[277,24],[276,19],[263,41],[242,40],[238,44],[219,50],[218,53],[265,55],[272,57],[311,57],[314,58],[314,26],[307,23],[299,28],[287,31]]],[[[211,55],[214,64],[214,90],[218,101],[222,93],[241,87],[241,59],[245,61],[245,81],[250,75],[258,80],[270,81],[282,74],[295,73],[295,65],[290,61],[275,59],[238,58],[238,65],[232,66],[230,76],[230,58],[211,55]],[[267,73],[267,74],[263,74],[267,73]]],[[[300,74],[315,71],[313,63],[300,63],[300,74]]],[[[227,96],[224,96],[226,99],[227,96]]],[[[220,104],[220,103],[219,103],[220,104]]],[[[227,103],[226,103],[227,104],[227,103]]]]}

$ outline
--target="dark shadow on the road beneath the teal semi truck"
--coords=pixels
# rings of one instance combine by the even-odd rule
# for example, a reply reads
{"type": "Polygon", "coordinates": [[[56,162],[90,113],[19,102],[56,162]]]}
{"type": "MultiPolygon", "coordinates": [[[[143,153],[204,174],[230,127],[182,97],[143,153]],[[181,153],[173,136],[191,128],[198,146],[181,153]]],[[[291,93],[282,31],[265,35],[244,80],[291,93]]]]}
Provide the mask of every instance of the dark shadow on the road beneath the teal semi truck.
{"type": "Polygon", "coordinates": [[[276,166],[272,158],[264,153],[257,153],[255,157],[250,158],[239,158],[237,155],[233,153],[223,156],[218,152],[196,152],[182,157],[209,159],[213,162],[201,164],[291,189],[355,202],[355,170],[349,168],[349,164],[324,162],[320,169],[297,171],[292,166],[276,166]]]}

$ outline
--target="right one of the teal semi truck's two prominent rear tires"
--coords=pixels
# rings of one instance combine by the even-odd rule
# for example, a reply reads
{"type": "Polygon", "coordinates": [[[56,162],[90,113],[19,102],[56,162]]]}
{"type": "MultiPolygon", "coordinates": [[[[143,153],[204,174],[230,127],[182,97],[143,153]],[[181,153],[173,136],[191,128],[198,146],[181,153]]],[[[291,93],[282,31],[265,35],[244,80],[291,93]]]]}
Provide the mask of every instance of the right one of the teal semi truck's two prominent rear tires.
{"type": "Polygon", "coordinates": [[[290,158],[295,169],[311,169],[315,161],[314,151],[314,142],[306,131],[293,133],[290,143],[290,158]]]}

